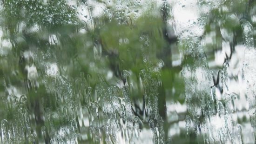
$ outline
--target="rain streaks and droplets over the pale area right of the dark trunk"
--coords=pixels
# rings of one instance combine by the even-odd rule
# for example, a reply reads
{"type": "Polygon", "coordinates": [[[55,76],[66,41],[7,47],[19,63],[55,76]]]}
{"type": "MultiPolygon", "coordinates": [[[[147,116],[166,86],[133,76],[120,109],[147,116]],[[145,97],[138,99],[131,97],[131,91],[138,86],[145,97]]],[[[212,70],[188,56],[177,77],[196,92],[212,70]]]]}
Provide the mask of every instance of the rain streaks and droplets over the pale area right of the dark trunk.
{"type": "MultiPolygon", "coordinates": [[[[239,21],[238,16],[232,13],[227,14],[225,18],[229,15],[231,15],[230,19],[232,17],[233,20],[239,21]]],[[[221,23],[223,13],[220,16],[220,19],[213,19],[216,25],[221,23]]],[[[218,33],[218,37],[222,38],[220,40],[222,46],[218,42],[211,41],[214,43],[214,48],[222,48],[221,52],[224,56],[223,61],[220,62],[221,68],[217,70],[215,65],[208,63],[207,54],[204,54],[208,52],[207,46],[209,45],[205,45],[204,42],[207,41],[209,35],[203,35],[200,41],[186,38],[184,41],[189,41],[189,44],[185,43],[185,46],[181,38],[183,46],[180,52],[183,62],[188,65],[183,66],[182,70],[186,85],[187,135],[190,140],[196,140],[199,143],[255,143],[253,25],[243,18],[240,19],[240,24],[239,22],[233,23],[234,27],[236,25],[240,27],[236,29],[241,29],[240,34],[243,40],[239,41],[238,32],[234,32],[234,29],[229,38],[227,37],[229,27],[225,27],[224,23],[228,20],[223,21],[223,24],[219,25],[220,30],[216,29],[216,32],[213,32],[214,36],[218,33]],[[225,43],[229,44],[227,47],[231,52],[227,52],[225,43]],[[195,56],[196,54],[198,57],[195,56]],[[186,59],[188,55],[193,58],[193,62],[186,59]],[[198,60],[199,65],[203,66],[198,65],[198,60]],[[214,71],[211,72],[210,68],[214,71]],[[195,136],[197,139],[194,139],[195,136]]],[[[207,21],[203,21],[205,22],[207,21]]],[[[212,24],[207,25],[212,27],[212,24]]],[[[206,31],[208,31],[207,28],[206,31]]],[[[218,61],[218,59],[215,60],[218,61]]]]}

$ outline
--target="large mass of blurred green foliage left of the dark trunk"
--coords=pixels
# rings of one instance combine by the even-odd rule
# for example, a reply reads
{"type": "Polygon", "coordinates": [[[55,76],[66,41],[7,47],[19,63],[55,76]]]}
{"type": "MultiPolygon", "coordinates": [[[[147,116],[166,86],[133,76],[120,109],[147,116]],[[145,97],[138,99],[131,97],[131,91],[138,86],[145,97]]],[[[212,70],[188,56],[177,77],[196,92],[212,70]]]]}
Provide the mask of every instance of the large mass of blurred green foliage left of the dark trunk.
{"type": "MultiPolygon", "coordinates": [[[[87,2],[81,1],[81,4],[87,5],[87,2]]],[[[49,142],[48,138],[55,137],[62,127],[69,127],[74,121],[78,124],[80,116],[74,114],[81,107],[88,113],[94,104],[101,102],[99,98],[106,94],[110,97],[109,87],[119,81],[121,85],[128,85],[132,102],[153,93],[160,93],[159,105],[165,103],[166,94],[184,102],[184,98],[180,98],[184,84],[177,76],[180,70],[168,67],[161,71],[163,63],[158,56],[170,47],[163,33],[165,21],[160,11],[155,13],[158,9],[154,3],[137,18],[131,12],[126,15],[126,10],[108,7],[112,15],[90,15],[92,24],[80,20],[76,9],[66,0],[2,0],[2,6],[2,39],[10,42],[10,46],[0,56],[0,118],[17,127],[24,127],[18,119],[22,123],[31,121],[27,130],[17,130],[18,133],[26,131],[26,136],[19,136],[20,139],[26,137],[21,143],[28,143],[27,137],[33,135],[33,131],[37,134],[35,141],[49,142]],[[51,64],[57,67],[55,75],[48,72],[51,64]],[[113,75],[108,78],[108,73],[113,75]],[[106,85],[101,88],[102,81],[106,85]],[[23,96],[15,93],[8,96],[12,86],[23,96]],[[96,91],[99,89],[105,91],[100,94],[96,91]],[[17,102],[8,102],[9,97],[17,102]],[[26,113],[24,118],[22,113],[26,113]]],[[[118,90],[116,96],[123,98],[125,93],[118,90]]],[[[155,99],[149,97],[147,105],[151,105],[150,101],[155,99]]],[[[104,110],[104,105],[99,106],[99,110],[104,110]]],[[[164,107],[159,111],[164,115],[164,107]]],[[[88,140],[91,138],[88,136],[88,140]]]]}

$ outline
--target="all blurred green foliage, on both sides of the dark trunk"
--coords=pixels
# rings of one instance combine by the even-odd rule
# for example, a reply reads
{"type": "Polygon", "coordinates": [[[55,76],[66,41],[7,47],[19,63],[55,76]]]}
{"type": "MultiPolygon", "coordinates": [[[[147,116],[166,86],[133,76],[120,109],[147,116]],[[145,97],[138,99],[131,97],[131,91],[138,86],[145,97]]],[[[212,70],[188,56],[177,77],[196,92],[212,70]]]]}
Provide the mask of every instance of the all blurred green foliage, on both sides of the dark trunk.
{"type": "MultiPolygon", "coordinates": [[[[76,1],[77,7],[87,8],[84,11],[89,13],[86,16],[89,22],[80,20],[77,9],[67,0],[1,2],[1,39],[10,45],[2,48],[5,52],[0,55],[0,120],[7,119],[10,125],[17,123],[18,126],[19,119],[22,123],[31,120],[31,127],[26,128],[27,135],[35,131],[39,141],[45,140],[45,135],[54,137],[62,127],[78,124],[80,111],[87,116],[96,108],[102,112],[105,106],[101,105],[102,99],[112,103],[112,95],[126,100],[125,93],[129,93],[127,103],[132,105],[133,100],[143,101],[145,95],[155,94],[157,98],[149,97],[145,103],[150,105],[156,99],[158,105],[150,106],[161,116],[167,100],[184,104],[182,68],[189,67],[192,71],[197,67],[208,68],[207,61],[215,58],[213,53],[222,48],[223,41],[243,43],[240,21],[251,22],[254,11],[245,5],[248,0],[223,0],[221,7],[213,7],[209,16],[203,17],[206,24],[202,37],[179,41],[182,63],[172,66],[171,50],[174,48],[164,31],[171,18],[167,2],[161,7],[152,2],[144,10],[139,2],[114,0],[116,6],[111,6],[108,1],[97,0],[95,4],[103,4],[106,10],[100,16],[93,16],[95,7],[88,6],[86,0],[76,1]],[[132,8],[119,7],[118,3],[132,8]],[[223,36],[223,30],[230,37],[223,36]],[[206,37],[212,42],[200,49],[199,44],[206,37]],[[50,65],[56,65],[55,74],[49,74],[50,65]],[[29,73],[32,68],[36,75],[29,73]],[[127,89],[113,86],[117,84],[127,89]],[[14,91],[13,87],[16,93],[10,92],[14,91]],[[110,91],[111,88],[115,92],[110,91]],[[48,134],[41,132],[44,127],[50,131],[48,134]]],[[[209,5],[205,0],[199,0],[199,4],[209,5]]],[[[191,101],[198,105],[199,100],[191,101]]],[[[103,123],[102,119],[99,121],[103,123]]],[[[164,126],[168,129],[169,124],[164,126]]],[[[25,128],[17,131],[25,131],[25,128]]],[[[89,128],[84,131],[90,132],[89,128]]],[[[93,139],[90,134],[87,136],[88,141],[93,139]]],[[[188,140],[177,139],[174,137],[177,143],[188,140]]],[[[191,138],[190,142],[194,141],[191,138]]]]}

